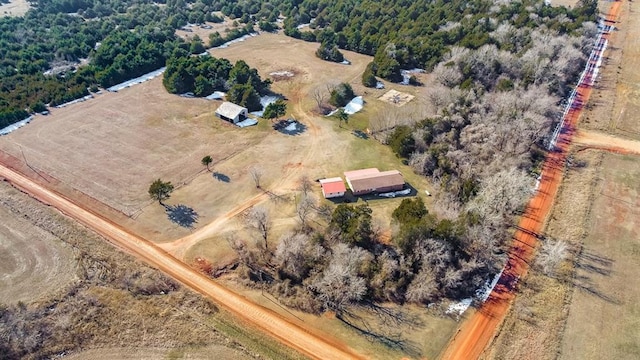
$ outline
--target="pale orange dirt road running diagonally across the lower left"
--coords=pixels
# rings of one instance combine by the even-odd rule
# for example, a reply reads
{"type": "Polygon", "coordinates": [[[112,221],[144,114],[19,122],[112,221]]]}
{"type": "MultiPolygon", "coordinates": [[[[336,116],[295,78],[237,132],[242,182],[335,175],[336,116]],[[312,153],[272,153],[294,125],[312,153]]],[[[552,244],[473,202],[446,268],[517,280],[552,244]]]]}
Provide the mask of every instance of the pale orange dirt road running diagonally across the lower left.
{"type": "Polygon", "coordinates": [[[54,206],[64,214],[104,236],[146,263],[178,280],[182,284],[212,299],[238,318],[246,320],[278,341],[314,359],[360,359],[363,356],[350,348],[311,333],[301,325],[285,320],[278,314],[255,305],[193,270],[150,241],[128,233],[120,226],[82,209],[64,196],[36,184],[21,174],[0,165],[0,177],[39,201],[54,206]]]}

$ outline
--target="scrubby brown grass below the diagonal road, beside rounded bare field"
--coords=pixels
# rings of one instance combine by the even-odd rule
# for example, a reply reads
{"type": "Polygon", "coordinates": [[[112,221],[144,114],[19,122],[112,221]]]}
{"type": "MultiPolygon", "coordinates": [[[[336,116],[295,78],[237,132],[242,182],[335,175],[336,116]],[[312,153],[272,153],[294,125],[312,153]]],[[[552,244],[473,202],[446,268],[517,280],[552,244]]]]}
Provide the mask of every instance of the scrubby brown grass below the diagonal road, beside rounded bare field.
{"type": "Polygon", "coordinates": [[[55,210],[6,184],[0,188],[0,209],[11,209],[31,227],[73,247],[71,262],[78,276],[78,281],[50,290],[38,301],[2,305],[3,356],[50,358],[115,347],[125,352],[163,348],[168,357],[190,353],[199,357],[198,349],[211,346],[221,354],[233,354],[231,358],[298,357],[264,335],[239,327],[208,300],[180,288],[55,210]]]}

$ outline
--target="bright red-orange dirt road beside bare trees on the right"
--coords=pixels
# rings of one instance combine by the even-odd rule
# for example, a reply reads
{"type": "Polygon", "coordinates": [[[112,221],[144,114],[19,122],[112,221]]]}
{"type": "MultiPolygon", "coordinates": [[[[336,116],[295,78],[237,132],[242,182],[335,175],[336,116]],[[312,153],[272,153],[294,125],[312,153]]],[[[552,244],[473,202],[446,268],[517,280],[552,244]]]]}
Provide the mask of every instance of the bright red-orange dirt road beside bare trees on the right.
{"type": "MultiPolygon", "coordinates": [[[[617,19],[620,5],[621,1],[611,5],[607,21],[612,22],[617,19]]],[[[578,97],[584,104],[589,100],[591,90],[590,86],[578,87],[578,97]]],[[[529,262],[535,254],[538,234],[544,227],[558,192],[571,138],[581,114],[581,107],[570,110],[565,119],[564,129],[559,135],[556,151],[549,153],[544,162],[540,187],[527,205],[527,210],[518,224],[509,252],[509,260],[498,284],[480,309],[461,325],[440,356],[441,359],[478,359],[494,338],[496,330],[515,298],[517,281],[527,274],[529,262]]]]}

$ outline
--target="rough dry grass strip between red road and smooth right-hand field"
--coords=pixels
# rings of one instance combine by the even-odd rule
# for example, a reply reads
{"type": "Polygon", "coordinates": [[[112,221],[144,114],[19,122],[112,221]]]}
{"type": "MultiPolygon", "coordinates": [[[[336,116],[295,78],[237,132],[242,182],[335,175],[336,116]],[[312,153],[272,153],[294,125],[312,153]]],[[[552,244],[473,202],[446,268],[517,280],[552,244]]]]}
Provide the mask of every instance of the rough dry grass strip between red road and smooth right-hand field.
{"type": "MultiPolygon", "coordinates": [[[[587,234],[593,197],[597,191],[602,155],[596,151],[574,154],[585,168],[568,171],[562,182],[544,235],[579,248],[587,234]]],[[[556,359],[572,295],[572,266],[565,263],[551,278],[535,267],[521,282],[520,294],[490,349],[487,359],[556,359]],[[568,275],[568,276],[567,276],[568,275]]]]}

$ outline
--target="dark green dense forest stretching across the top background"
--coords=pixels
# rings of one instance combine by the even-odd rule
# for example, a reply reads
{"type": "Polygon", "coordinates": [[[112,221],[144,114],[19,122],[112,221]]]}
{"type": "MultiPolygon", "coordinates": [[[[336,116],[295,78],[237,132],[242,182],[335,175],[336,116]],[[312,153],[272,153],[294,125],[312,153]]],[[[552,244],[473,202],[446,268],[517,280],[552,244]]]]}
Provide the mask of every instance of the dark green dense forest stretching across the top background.
{"type": "Polygon", "coordinates": [[[32,5],[24,17],[0,18],[0,126],[45,104],[159,68],[177,47],[194,50],[173,30],[219,22],[219,12],[244,25],[214,33],[210,46],[251,31],[254,23],[272,31],[284,17],[285,33],[321,43],[322,58],[341,61],[338,48],[375,55],[370,85],[370,75],[398,81],[402,68],[433,69],[452,45],[497,44],[489,34],[504,22],[575,34],[596,12],[594,0],[582,0],[572,10],[534,0],[38,0],[32,5]],[[298,30],[305,23],[312,31],[298,30]]]}

